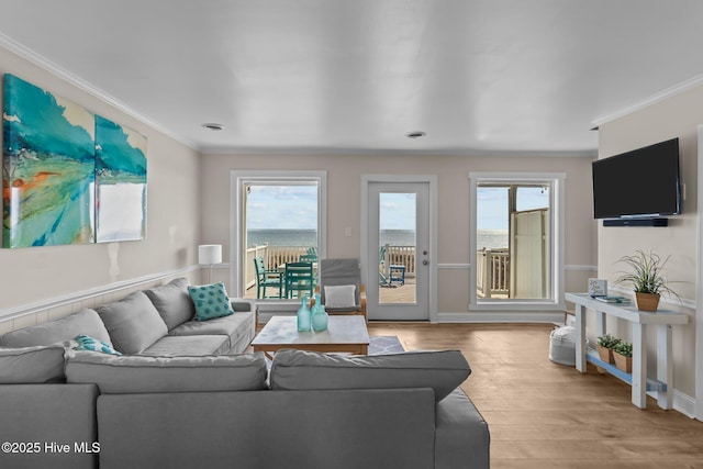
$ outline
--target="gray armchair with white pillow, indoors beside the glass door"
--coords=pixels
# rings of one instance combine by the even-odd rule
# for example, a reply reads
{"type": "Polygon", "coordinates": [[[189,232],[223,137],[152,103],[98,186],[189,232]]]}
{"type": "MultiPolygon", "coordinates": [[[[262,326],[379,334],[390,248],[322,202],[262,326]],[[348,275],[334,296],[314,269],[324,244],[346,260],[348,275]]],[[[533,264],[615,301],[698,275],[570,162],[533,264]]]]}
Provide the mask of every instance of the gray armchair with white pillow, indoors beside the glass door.
{"type": "Polygon", "coordinates": [[[328,314],[360,314],[366,320],[366,288],[359,259],[321,259],[319,276],[320,299],[328,314]]]}

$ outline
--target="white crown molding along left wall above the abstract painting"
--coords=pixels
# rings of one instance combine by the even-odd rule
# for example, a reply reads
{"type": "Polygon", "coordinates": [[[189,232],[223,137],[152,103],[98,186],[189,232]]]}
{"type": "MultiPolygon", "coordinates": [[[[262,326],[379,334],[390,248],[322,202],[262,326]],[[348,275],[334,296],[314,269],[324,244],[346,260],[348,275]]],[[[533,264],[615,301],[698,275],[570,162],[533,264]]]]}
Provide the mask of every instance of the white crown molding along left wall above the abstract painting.
{"type": "Polygon", "coordinates": [[[37,54],[36,52],[32,51],[31,48],[18,43],[16,41],[12,40],[11,37],[0,33],[0,47],[3,47],[8,51],[10,51],[11,53],[18,55],[19,57],[27,60],[29,63],[36,65],[40,68],[43,68],[44,70],[48,71],[49,74],[60,78],[64,81],[67,81],[68,83],[75,86],[76,88],[80,89],[81,91],[87,92],[88,94],[98,98],[99,100],[105,102],[107,104],[111,105],[112,108],[115,108],[116,110],[130,115],[131,118],[136,119],[137,121],[148,125],[149,127],[154,129],[157,132],[163,133],[164,135],[190,147],[193,150],[199,150],[198,146],[193,143],[193,142],[189,142],[188,139],[183,138],[180,135],[175,134],[174,132],[169,131],[168,129],[164,127],[161,124],[159,124],[158,122],[155,122],[148,118],[146,118],[143,114],[140,114],[138,112],[136,112],[134,109],[130,108],[129,105],[124,104],[122,101],[118,100],[116,98],[114,98],[113,96],[111,96],[110,93],[105,92],[104,90],[101,90],[100,88],[96,87],[94,85],[83,80],[82,78],[78,77],[77,75],[66,70],[65,68],[63,68],[62,66],[55,64],[54,62],[49,60],[48,58],[44,57],[41,54],[37,54]]]}

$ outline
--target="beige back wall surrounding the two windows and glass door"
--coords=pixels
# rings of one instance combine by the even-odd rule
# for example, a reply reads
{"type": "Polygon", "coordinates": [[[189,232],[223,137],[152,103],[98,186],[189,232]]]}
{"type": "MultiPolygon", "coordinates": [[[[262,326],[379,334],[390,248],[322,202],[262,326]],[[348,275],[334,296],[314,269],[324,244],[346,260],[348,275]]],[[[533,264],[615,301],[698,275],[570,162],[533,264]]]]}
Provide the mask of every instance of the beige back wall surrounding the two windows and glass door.
{"type": "MultiPolygon", "coordinates": [[[[590,158],[397,155],[205,155],[202,160],[203,239],[230,258],[230,171],[327,171],[327,256],[360,257],[360,180],[365,174],[437,175],[438,312],[466,313],[469,302],[469,171],[563,171],[566,179],[567,291],[584,291],[595,266],[590,158]],[[345,236],[345,227],[353,227],[345,236]]],[[[224,272],[217,272],[224,278],[224,272]]]]}

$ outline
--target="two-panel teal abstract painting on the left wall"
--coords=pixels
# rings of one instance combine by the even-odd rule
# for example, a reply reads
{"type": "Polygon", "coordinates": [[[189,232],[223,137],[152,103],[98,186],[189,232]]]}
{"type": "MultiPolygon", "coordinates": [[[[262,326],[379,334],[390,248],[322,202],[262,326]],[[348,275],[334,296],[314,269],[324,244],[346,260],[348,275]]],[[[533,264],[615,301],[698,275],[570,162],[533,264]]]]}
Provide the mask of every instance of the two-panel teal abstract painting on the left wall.
{"type": "Polygon", "coordinates": [[[144,239],[146,137],[5,74],[2,246],[144,239]]]}

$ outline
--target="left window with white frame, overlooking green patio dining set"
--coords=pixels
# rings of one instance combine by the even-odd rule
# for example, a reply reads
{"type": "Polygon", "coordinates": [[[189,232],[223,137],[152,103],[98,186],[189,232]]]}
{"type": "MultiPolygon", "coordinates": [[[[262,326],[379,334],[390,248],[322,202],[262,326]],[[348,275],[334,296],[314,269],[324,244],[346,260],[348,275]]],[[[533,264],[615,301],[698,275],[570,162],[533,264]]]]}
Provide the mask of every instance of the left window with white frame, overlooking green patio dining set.
{"type": "Polygon", "coordinates": [[[283,288],[286,264],[325,255],[325,181],[321,171],[232,172],[234,294],[298,304],[283,288]],[[257,257],[266,277],[257,271],[257,257]]]}

